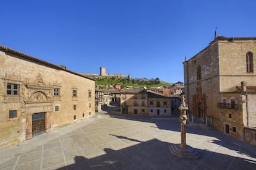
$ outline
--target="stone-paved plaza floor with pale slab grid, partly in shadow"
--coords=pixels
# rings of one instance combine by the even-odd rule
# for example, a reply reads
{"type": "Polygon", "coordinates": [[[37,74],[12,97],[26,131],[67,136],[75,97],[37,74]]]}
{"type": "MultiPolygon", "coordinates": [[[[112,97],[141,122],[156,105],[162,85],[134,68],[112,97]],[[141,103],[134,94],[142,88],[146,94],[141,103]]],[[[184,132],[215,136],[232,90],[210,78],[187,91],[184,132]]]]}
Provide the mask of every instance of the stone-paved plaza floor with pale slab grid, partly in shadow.
{"type": "Polygon", "coordinates": [[[211,129],[187,126],[199,159],[177,158],[179,119],[98,114],[0,150],[0,169],[256,169],[256,147],[211,129]]]}

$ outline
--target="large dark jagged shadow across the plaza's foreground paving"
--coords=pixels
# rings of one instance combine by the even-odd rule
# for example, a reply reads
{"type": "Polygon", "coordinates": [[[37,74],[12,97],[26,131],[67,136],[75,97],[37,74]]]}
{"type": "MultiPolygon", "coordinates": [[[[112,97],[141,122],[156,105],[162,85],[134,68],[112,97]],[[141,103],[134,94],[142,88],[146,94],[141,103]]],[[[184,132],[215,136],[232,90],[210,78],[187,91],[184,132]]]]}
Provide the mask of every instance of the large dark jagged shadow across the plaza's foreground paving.
{"type": "Polygon", "coordinates": [[[236,151],[224,154],[197,150],[202,155],[199,159],[186,159],[172,155],[169,151],[171,144],[152,139],[121,150],[105,148],[104,155],[94,158],[75,156],[74,164],[59,169],[255,169],[255,159],[231,155],[236,151]]]}

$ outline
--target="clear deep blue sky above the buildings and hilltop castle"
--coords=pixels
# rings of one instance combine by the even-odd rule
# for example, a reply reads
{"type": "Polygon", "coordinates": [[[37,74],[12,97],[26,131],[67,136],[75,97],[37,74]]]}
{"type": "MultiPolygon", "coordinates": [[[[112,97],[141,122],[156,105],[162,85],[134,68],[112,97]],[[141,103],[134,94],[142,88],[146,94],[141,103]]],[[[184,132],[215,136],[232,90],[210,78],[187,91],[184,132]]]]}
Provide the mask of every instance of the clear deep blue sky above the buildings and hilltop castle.
{"type": "Polygon", "coordinates": [[[255,0],[1,1],[0,44],[76,72],[184,81],[217,34],[255,36],[255,0]]]}

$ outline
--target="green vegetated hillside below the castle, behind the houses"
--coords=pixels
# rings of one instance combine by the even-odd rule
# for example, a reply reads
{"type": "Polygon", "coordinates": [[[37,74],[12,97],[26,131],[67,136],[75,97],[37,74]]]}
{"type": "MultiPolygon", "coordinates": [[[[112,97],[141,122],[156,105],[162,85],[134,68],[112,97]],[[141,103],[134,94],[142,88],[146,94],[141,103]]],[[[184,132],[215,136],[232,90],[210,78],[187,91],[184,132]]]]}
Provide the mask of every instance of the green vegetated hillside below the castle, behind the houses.
{"type": "Polygon", "coordinates": [[[96,79],[95,85],[99,87],[108,87],[109,85],[115,85],[117,83],[121,84],[121,88],[126,86],[132,87],[161,87],[170,86],[172,83],[163,82],[160,79],[116,79],[116,77],[103,77],[101,79],[96,79]]]}

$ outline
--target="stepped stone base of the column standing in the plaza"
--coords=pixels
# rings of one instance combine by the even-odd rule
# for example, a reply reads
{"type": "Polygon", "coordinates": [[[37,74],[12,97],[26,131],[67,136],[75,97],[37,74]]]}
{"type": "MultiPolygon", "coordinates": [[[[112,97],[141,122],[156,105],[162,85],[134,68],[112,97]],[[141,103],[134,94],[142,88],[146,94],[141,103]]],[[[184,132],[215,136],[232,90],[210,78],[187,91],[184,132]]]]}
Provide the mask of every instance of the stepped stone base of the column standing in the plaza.
{"type": "Polygon", "coordinates": [[[173,144],[169,146],[169,150],[171,153],[179,158],[190,158],[190,159],[198,159],[200,158],[200,154],[194,150],[194,148],[189,147],[181,148],[180,144],[173,144]]]}

